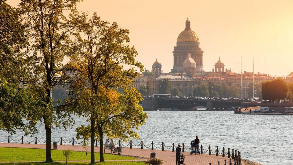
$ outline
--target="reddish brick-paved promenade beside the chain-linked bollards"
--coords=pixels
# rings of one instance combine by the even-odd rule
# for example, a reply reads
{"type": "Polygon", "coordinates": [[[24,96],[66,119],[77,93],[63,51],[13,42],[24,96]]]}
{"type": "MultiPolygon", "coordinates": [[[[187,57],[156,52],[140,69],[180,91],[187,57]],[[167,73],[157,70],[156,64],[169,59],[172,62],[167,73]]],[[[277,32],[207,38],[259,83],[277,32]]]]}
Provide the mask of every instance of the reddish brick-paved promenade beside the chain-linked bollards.
{"type": "MultiPolygon", "coordinates": [[[[19,144],[19,143],[0,143],[0,147],[16,147],[16,148],[33,148],[33,149],[45,149],[44,144],[19,144]]],[[[53,148],[53,146],[51,147],[53,148]]],[[[59,150],[70,149],[72,151],[85,151],[80,145],[58,145],[59,150]]],[[[95,152],[99,152],[99,147],[95,147],[95,152]]],[[[176,158],[175,152],[172,151],[161,151],[161,150],[150,150],[150,149],[137,149],[137,148],[122,148],[123,155],[128,156],[138,156],[143,158],[150,158],[150,152],[156,152],[157,157],[164,160],[164,165],[175,165],[176,158]]],[[[107,151],[106,151],[107,153],[107,151]]],[[[119,155],[119,154],[118,154],[119,155]]],[[[201,155],[190,155],[190,152],[183,152],[185,156],[186,165],[217,165],[220,161],[221,165],[224,165],[224,160],[226,159],[227,165],[229,165],[228,157],[201,154],[201,155]]],[[[125,160],[124,160],[125,161],[125,160]]],[[[233,164],[233,160],[232,160],[233,164]]],[[[244,165],[244,162],[242,162],[244,165]]]]}

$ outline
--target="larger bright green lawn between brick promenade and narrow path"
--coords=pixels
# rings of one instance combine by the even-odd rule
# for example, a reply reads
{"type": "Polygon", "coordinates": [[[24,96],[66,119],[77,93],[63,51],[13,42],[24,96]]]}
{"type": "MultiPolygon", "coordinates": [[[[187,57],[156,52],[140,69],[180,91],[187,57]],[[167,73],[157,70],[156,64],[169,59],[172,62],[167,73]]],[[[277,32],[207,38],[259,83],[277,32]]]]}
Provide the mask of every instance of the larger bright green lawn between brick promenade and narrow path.
{"type": "MultiPolygon", "coordinates": [[[[62,150],[51,150],[52,160],[66,160],[62,150]]],[[[7,148],[0,147],[0,162],[24,162],[24,161],[44,161],[46,158],[45,149],[27,149],[27,148],[7,148]]],[[[72,151],[69,160],[91,160],[91,153],[85,155],[85,152],[72,151]]],[[[99,160],[99,153],[95,153],[96,160],[99,160]]],[[[104,154],[105,160],[133,160],[136,158],[128,156],[118,156],[112,154],[104,154]]]]}

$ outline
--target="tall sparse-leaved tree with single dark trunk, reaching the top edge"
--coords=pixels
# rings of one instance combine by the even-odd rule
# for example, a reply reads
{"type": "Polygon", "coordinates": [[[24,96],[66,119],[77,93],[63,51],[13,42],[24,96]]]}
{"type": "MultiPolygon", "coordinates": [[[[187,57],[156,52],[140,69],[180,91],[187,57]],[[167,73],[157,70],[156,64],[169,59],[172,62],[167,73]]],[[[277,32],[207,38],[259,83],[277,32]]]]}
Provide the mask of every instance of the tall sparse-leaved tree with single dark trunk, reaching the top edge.
{"type": "Polygon", "coordinates": [[[55,110],[50,97],[55,86],[67,84],[69,76],[63,74],[65,56],[72,55],[71,34],[76,27],[72,16],[79,0],[21,0],[19,11],[31,41],[28,79],[24,81],[41,99],[36,108],[36,118],[44,122],[46,131],[46,162],[52,162],[51,133],[54,126],[63,125],[65,130],[73,121],[67,111],[55,110]],[[65,16],[65,14],[68,16],[65,16]]]}

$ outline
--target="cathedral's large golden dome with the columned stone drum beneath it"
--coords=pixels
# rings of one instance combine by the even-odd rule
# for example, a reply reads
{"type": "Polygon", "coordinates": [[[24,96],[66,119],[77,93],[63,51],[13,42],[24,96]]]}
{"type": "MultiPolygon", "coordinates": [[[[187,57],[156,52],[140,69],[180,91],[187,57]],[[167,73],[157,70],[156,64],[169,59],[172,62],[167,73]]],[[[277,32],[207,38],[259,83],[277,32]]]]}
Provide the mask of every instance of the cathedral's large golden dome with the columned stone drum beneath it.
{"type": "Polygon", "coordinates": [[[190,20],[187,17],[185,21],[185,30],[182,31],[178,38],[176,46],[174,46],[173,57],[174,64],[172,72],[184,72],[186,69],[183,66],[188,54],[195,61],[196,72],[203,71],[204,66],[202,65],[202,55],[204,51],[200,48],[200,43],[197,34],[190,28],[190,20]]]}

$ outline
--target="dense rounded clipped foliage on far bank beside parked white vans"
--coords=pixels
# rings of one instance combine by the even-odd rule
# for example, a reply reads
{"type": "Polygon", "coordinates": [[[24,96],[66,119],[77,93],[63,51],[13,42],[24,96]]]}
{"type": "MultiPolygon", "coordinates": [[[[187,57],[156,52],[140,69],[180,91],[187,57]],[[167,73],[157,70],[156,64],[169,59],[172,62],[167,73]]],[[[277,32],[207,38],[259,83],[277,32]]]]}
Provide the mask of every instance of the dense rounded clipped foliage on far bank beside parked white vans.
{"type": "Polygon", "coordinates": [[[274,79],[262,83],[263,100],[276,101],[290,97],[289,85],[284,79],[274,79]]]}

